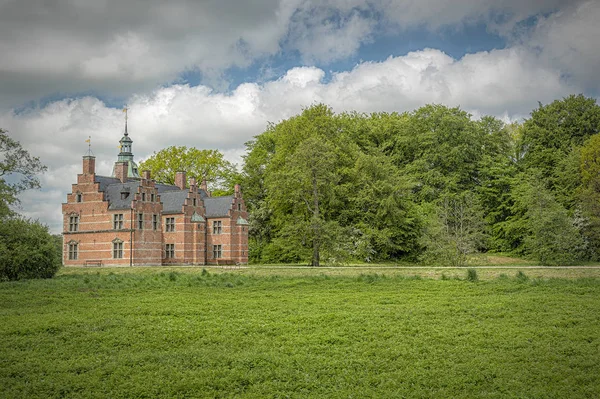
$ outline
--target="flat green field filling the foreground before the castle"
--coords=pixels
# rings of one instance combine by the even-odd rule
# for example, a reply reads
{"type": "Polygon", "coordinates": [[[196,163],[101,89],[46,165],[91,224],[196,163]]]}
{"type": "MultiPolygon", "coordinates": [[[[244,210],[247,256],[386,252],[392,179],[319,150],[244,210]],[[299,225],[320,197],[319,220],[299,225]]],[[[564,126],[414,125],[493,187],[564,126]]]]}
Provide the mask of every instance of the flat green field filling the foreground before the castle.
{"type": "Polygon", "coordinates": [[[0,396],[600,397],[598,269],[547,270],[63,269],[0,283],[0,396]]]}

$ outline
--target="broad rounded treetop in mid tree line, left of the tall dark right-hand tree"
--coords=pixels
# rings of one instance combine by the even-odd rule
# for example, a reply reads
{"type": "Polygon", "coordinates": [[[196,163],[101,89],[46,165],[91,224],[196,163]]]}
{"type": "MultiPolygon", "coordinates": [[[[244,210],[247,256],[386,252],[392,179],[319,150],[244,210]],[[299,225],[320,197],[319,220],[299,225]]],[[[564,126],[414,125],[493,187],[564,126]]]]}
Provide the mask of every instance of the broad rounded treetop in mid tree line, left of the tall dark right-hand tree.
{"type": "Polygon", "coordinates": [[[493,118],[476,123],[459,108],[426,105],[404,119],[390,152],[417,183],[416,200],[432,202],[479,184],[480,163],[500,146],[495,136],[500,128],[493,118]]]}

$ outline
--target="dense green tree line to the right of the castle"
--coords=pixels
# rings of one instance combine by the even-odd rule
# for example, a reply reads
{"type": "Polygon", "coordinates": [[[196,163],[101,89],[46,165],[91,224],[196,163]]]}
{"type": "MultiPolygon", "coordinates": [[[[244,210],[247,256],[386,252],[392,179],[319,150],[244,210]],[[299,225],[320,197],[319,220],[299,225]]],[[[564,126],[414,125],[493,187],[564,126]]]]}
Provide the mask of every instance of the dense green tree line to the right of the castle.
{"type": "Polygon", "coordinates": [[[313,105],[246,144],[251,260],[598,260],[599,129],[600,106],[583,95],[512,124],[436,104],[372,114],[313,105]]]}

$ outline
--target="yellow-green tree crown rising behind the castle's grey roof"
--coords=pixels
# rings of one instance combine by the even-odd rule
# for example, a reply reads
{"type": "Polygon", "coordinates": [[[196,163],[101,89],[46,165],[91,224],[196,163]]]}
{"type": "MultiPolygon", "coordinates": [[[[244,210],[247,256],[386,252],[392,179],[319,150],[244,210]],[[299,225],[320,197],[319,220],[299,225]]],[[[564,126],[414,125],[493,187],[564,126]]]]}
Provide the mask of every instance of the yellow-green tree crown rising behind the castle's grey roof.
{"type": "Polygon", "coordinates": [[[216,195],[233,192],[239,173],[235,164],[227,161],[218,150],[199,150],[186,146],[171,146],[154,152],[141,162],[139,170],[149,170],[161,183],[175,184],[175,175],[185,171],[197,181],[206,179],[208,188],[216,195]]]}

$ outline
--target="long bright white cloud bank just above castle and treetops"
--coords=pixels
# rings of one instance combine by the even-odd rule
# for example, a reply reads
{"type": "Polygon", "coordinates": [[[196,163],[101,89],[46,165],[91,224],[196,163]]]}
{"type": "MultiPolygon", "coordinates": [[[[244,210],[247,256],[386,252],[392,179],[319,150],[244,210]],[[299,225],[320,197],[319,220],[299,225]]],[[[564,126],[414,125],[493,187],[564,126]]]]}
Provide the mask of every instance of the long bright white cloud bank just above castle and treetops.
{"type": "MultiPolygon", "coordinates": [[[[244,143],[264,131],[269,121],[288,118],[315,102],[325,102],[337,112],[402,112],[435,102],[506,120],[527,115],[537,101],[549,102],[579,91],[561,79],[560,71],[539,64],[522,47],[459,60],[425,49],[383,62],[361,63],[351,71],[333,74],[330,81],[325,76],[321,69],[298,67],[276,80],[240,85],[230,94],[204,86],[174,85],[133,96],[129,132],[136,159],[169,145],[187,145],[217,148],[228,159],[240,162],[244,143]]],[[[26,113],[0,114],[0,126],[49,167],[42,184],[52,196],[25,194],[23,213],[39,217],[57,231],[60,203],[87,150],[84,140],[92,136],[98,173],[109,174],[123,125],[120,109],[92,97],[56,101],[26,113]]]]}

